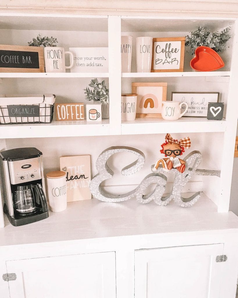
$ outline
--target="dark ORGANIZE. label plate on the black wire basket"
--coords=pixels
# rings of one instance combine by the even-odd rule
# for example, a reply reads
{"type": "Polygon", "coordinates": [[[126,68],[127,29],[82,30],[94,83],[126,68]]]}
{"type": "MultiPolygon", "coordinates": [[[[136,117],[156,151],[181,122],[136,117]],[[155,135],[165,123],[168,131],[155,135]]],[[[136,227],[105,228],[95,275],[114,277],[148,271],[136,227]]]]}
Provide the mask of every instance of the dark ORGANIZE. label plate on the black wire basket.
{"type": "Polygon", "coordinates": [[[38,105],[8,105],[9,117],[39,117],[38,105]]]}

